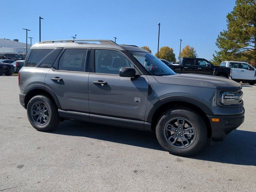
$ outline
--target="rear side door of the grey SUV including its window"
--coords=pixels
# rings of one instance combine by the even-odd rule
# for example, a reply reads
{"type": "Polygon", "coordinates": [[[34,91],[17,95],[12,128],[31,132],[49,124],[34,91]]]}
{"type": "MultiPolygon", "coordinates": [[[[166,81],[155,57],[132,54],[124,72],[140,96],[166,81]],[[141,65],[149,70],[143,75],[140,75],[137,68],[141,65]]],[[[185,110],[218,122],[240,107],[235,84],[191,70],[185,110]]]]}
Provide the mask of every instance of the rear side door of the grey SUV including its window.
{"type": "Polygon", "coordinates": [[[62,110],[88,114],[88,61],[90,50],[85,48],[64,48],[48,71],[45,85],[52,90],[62,110]]]}

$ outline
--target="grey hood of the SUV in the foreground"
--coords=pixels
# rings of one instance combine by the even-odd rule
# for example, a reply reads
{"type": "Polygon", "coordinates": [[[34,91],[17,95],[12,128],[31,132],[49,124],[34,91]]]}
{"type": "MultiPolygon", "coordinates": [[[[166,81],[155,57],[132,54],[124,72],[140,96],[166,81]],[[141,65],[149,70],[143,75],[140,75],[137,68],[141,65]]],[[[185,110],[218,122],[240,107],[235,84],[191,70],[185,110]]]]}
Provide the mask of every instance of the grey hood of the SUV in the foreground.
{"type": "Polygon", "coordinates": [[[240,89],[242,86],[228,78],[199,74],[180,74],[170,76],[154,76],[162,84],[194,86],[213,89],[240,89]]]}

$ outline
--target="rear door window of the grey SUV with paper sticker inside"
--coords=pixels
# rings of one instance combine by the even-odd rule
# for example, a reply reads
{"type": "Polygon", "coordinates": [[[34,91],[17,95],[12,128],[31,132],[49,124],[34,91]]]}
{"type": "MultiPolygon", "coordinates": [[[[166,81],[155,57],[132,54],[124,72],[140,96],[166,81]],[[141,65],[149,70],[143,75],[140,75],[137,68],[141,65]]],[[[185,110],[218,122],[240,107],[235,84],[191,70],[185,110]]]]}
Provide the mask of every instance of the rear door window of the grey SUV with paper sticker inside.
{"type": "Polygon", "coordinates": [[[66,49],[59,60],[59,70],[84,72],[87,49],[66,49]]]}

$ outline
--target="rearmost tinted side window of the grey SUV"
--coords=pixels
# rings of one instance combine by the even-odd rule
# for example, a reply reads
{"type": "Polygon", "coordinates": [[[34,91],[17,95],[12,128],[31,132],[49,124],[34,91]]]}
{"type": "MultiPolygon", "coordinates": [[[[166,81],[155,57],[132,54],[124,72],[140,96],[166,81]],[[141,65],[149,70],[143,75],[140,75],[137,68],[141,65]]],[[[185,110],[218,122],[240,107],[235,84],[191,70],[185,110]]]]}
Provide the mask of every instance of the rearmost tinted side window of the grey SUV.
{"type": "Polygon", "coordinates": [[[52,49],[33,49],[26,64],[26,67],[35,67],[52,49]]]}

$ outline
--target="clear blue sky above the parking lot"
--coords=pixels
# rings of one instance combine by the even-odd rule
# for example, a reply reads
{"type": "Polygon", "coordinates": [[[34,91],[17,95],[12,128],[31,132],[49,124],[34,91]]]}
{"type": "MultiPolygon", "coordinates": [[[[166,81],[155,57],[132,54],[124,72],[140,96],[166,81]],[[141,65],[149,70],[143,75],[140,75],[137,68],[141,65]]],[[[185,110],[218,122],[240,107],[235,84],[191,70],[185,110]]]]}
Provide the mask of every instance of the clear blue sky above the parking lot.
{"type": "Polygon", "coordinates": [[[216,38],[226,29],[226,15],[235,0],[0,0],[0,38],[32,43],[41,40],[111,39],[118,44],[147,45],[157,52],[158,23],[160,47],[170,46],[176,58],[182,48],[193,46],[200,58],[211,59],[216,38]],[[28,40],[30,42],[30,40],[28,40]]]}

